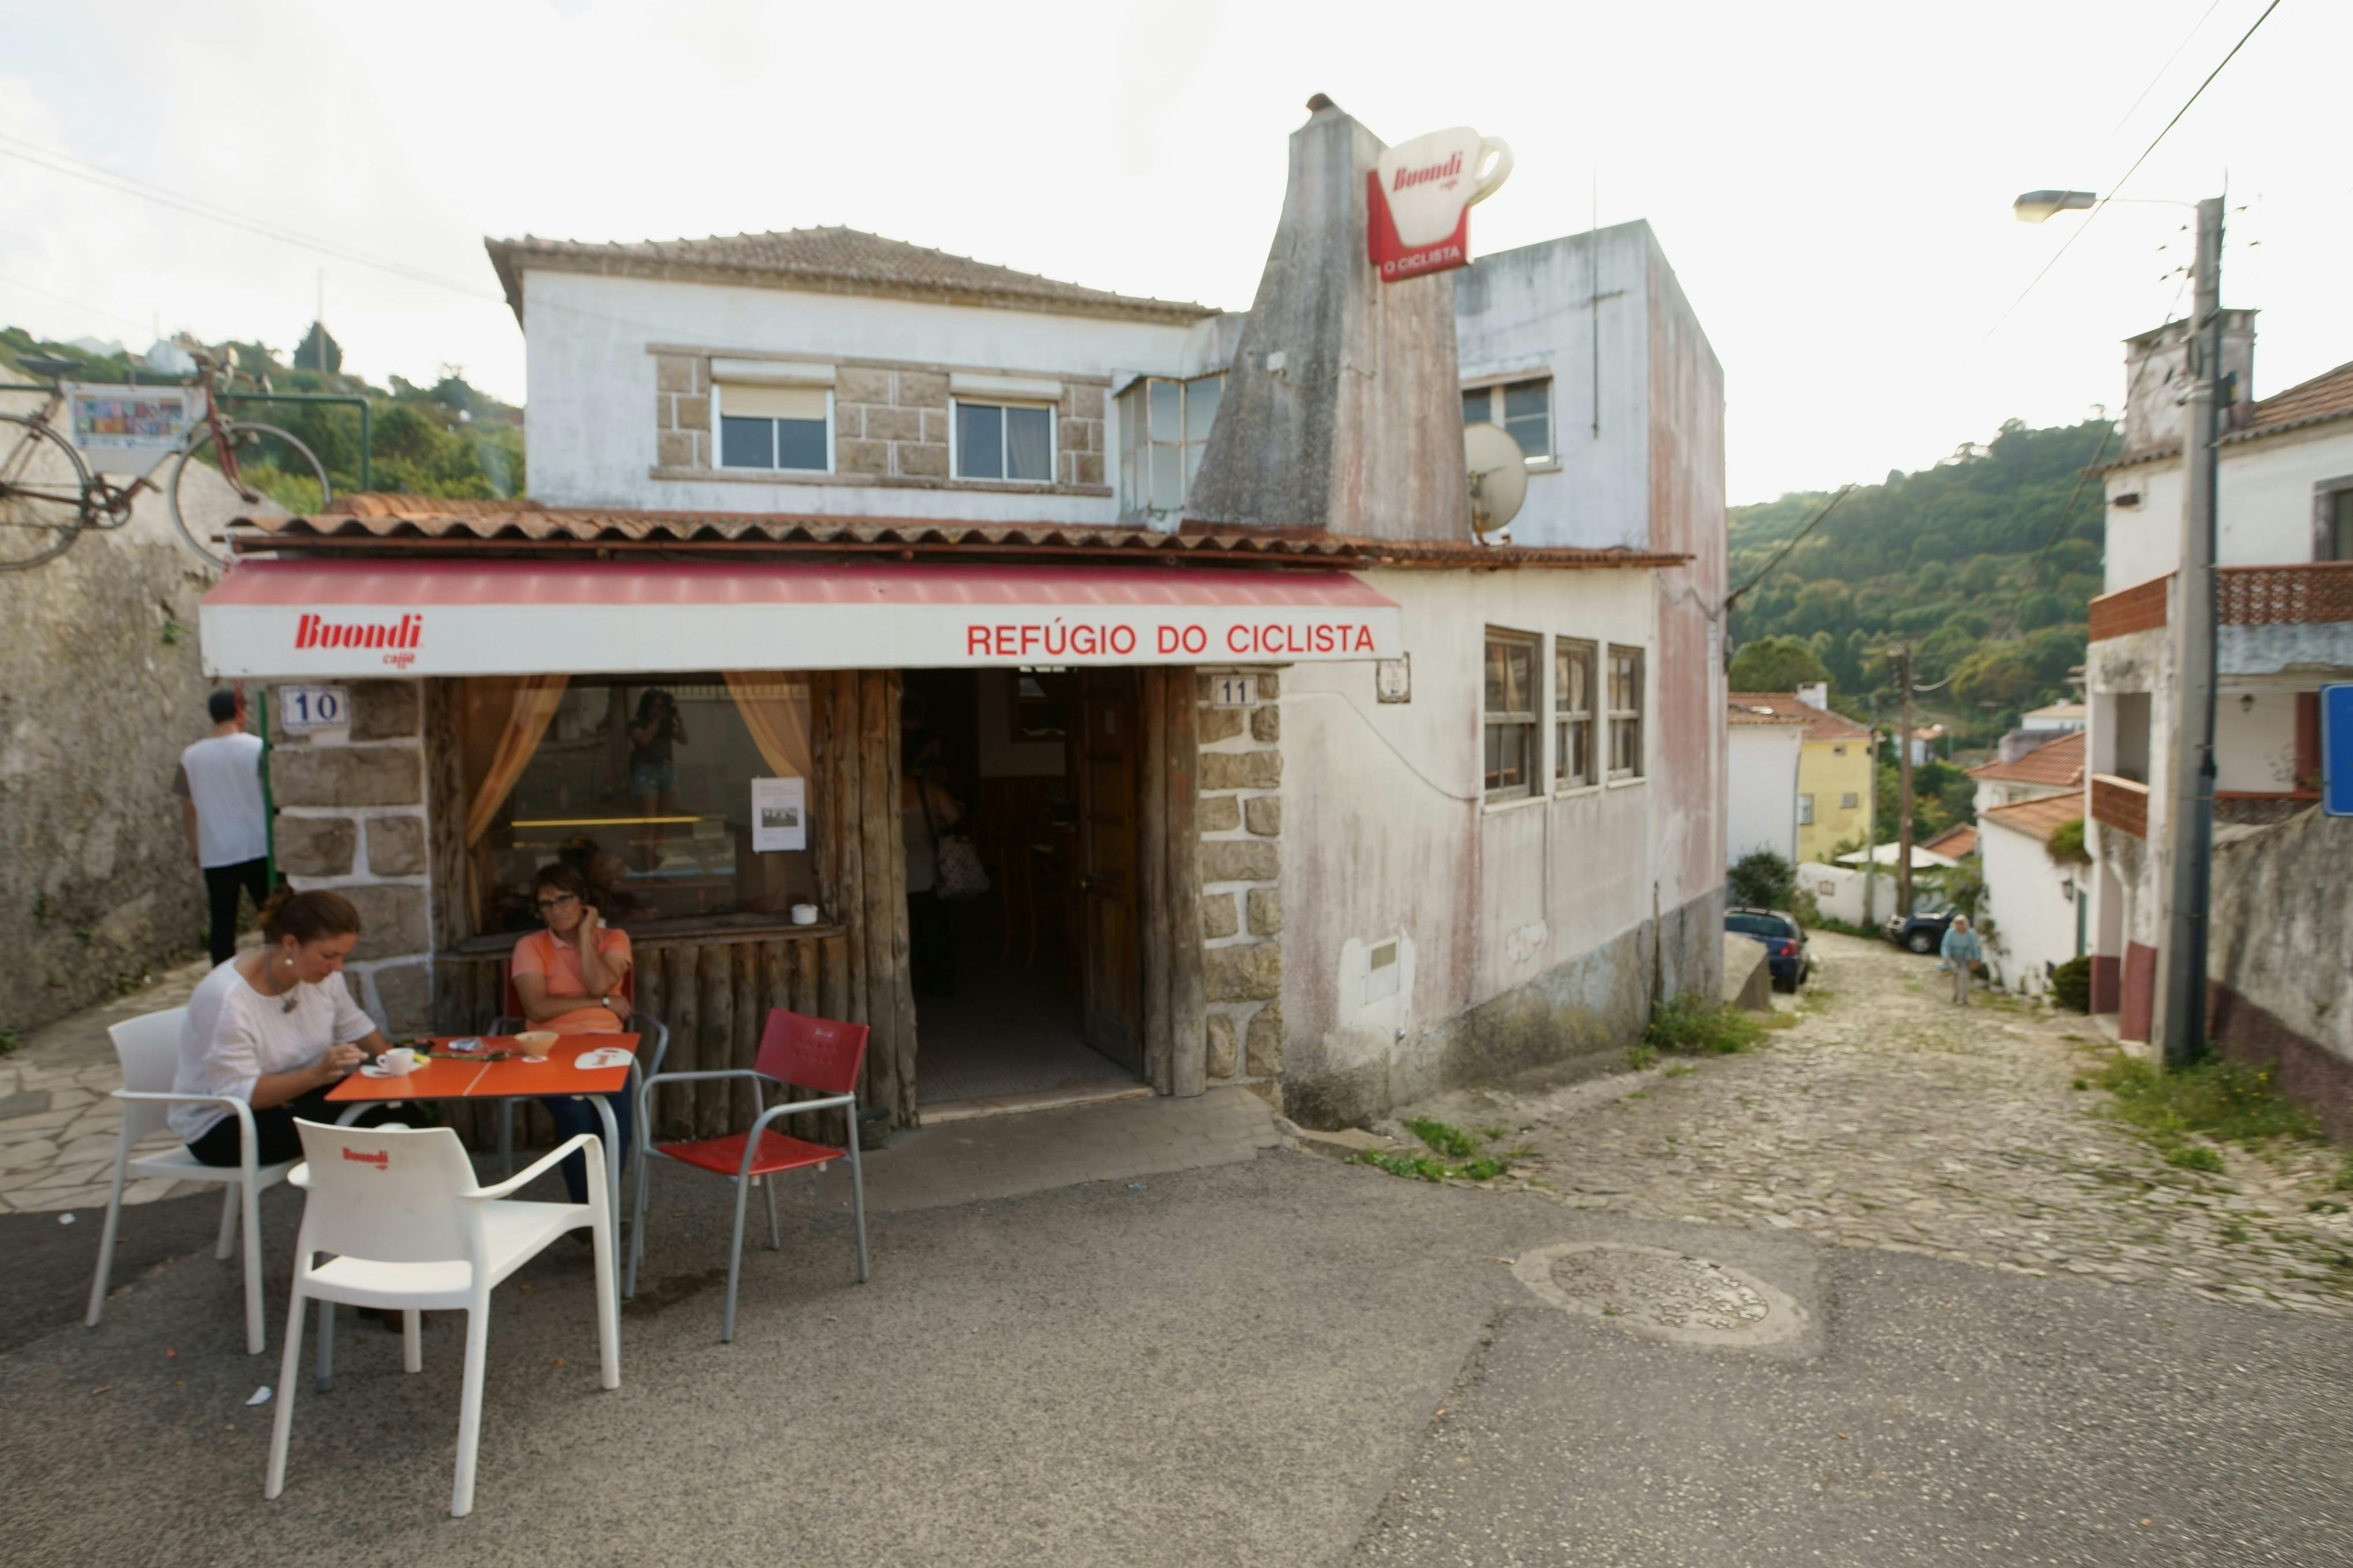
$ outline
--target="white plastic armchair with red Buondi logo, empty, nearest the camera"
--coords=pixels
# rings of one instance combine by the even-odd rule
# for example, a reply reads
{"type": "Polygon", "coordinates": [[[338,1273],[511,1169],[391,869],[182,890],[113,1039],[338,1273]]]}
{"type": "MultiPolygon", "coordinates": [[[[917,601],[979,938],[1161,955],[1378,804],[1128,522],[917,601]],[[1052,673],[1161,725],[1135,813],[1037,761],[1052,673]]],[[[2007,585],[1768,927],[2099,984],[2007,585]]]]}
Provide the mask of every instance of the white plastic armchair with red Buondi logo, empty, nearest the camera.
{"type": "Polygon", "coordinates": [[[271,1479],[264,1495],[287,1483],[287,1439],[294,1432],[294,1380],[301,1366],[304,1309],[318,1300],[318,1385],[334,1373],[334,1307],[388,1307],[405,1314],[405,1366],[424,1366],[416,1342],[419,1312],[466,1314],[466,1385],[456,1420],[456,1488],[449,1512],[473,1512],[473,1462],[482,1436],[482,1363],[489,1354],[489,1291],[536,1258],[567,1229],[588,1227],[595,1241],[595,1338],[602,1382],[621,1387],[621,1309],[614,1295],[612,1199],[605,1192],[605,1143],[591,1133],[567,1138],[532,1168],[482,1187],[466,1145],[447,1126],[362,1128],[294,1121],[306,1164],[289,1178],[311,1197],[294,1241],[294,1300],[287,1309],[285,1363],[278,1373],[278,1422],[271,1429],[271,1479]],[[567,1154],[588,1159],[586,1204],[522,1204],[515,1192],[567,1154]],[[334,1253],[318,1262],[320,1253],[334,1253]]]}

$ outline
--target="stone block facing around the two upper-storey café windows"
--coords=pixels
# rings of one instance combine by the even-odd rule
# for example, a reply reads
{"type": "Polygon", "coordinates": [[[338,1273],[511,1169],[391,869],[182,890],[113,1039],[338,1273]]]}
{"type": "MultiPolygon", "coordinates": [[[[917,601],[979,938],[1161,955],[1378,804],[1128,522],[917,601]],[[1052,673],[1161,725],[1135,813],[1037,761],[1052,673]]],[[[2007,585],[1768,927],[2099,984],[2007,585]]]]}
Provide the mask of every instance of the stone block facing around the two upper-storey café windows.
{"type": "MultiPolygon", "coordinates": [[[[896,484],[918,489],[1049,489],[1111,494],[1106,475],[1106,402],[1101,378],[1073,381],[1059,371],[1009,371],[1061,381],[1054,411],[1054,482],[1009,484],[958,480],[948,463],[948,421],[955,418],[946,364],[833,360],[833,473],[722,470],[711,444],[711,353],[654,350],[654,477],[725,477],[779,484],[896,484]]],[[[988,371],[1000,374],[1000,371],[988,371]]]]}

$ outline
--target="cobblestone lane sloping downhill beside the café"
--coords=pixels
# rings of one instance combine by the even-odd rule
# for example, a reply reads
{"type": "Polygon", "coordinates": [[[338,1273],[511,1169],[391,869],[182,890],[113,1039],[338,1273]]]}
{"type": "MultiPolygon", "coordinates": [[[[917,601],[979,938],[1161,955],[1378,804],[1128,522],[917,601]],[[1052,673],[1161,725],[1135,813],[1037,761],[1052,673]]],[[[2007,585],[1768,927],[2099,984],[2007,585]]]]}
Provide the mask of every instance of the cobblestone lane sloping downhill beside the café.
{"type": "Polygon", "coordinates": [[[2075,1086],[2106,1048],[2092,1020],[1962,1013],[1934,959],[1831,933],[1812,947],[1805,994],[1777,997],[1793,1027],[1755,1053],[1417,1110],[1515,1128],[1497,1145],[1534,1157],[1497,1185],[1577,1208],[2353,1316],[2344,1150],[2226,1145],[2219,1175],[2169,1166],[2075,1086]]]}

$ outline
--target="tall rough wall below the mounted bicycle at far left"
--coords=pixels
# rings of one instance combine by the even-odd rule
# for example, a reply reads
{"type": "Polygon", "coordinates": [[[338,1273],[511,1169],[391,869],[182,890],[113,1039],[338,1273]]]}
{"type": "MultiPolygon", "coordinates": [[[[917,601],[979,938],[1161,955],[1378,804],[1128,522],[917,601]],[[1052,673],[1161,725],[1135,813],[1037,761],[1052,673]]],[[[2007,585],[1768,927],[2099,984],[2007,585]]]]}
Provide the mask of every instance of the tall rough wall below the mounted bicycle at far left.
{"type": "MultiPolygon", "coordinates": [[[[31,411],[7,395],[0,409],[31,411]]],[[[212,515],[235,498],[188,475],[212,515]]],[[[0,1032],[24,1034],[205,950],[172,769],[212,729],[195,607],[214,571],[148,491],[31,571],[0,571],[0,1032]]]]}

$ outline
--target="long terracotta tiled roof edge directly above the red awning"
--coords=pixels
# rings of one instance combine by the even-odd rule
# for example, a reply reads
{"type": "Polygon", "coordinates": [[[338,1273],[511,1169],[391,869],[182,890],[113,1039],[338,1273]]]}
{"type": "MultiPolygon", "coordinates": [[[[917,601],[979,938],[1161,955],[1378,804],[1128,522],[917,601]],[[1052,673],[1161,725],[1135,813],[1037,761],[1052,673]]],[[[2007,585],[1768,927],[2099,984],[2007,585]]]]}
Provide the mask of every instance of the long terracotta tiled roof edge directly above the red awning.
{"type": "Polygon", "coordinates": [[[1214,559],[1219,564],[1329,567],[1678,567],[1687,555],[1645,550],[1567,550],[1471,541],[1409,543],[1341,534],[1268,534],[1247,529],[1089,527],[1064,522],[962,522],[953,517],[821,517],[793,512],[631,512],[553,508],[536,501],[449,501],[440,496],[336,496],[301,515],[238,517],[240,550],[334,552],[473,552],[496,550],[694,550],[713,545],[894,555],[1092,555],[1134,559],[1214,559]]]}

